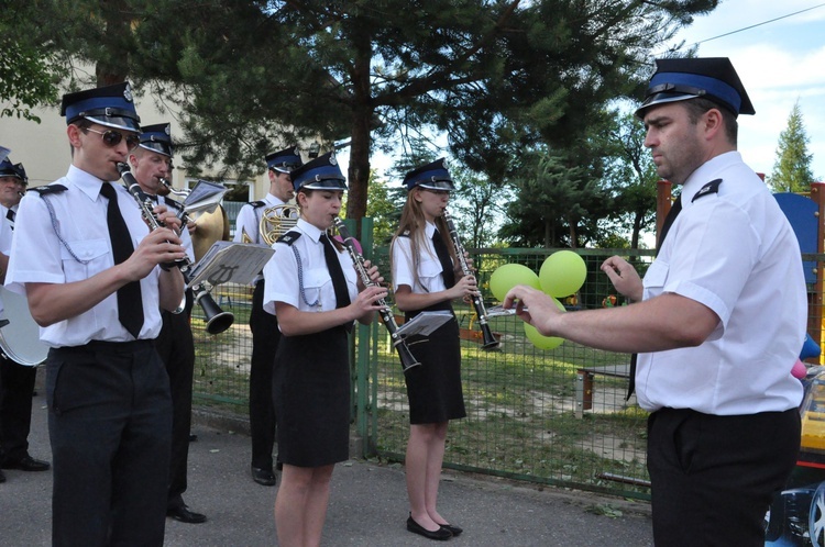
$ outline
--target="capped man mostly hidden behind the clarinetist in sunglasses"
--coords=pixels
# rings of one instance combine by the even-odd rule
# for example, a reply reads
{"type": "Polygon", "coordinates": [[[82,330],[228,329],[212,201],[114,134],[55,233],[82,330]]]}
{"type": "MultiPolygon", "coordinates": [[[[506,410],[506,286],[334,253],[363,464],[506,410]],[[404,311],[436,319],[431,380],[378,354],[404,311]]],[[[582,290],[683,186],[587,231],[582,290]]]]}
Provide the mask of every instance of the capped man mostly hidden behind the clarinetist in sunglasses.
{"type": "MultiPolygon", "coordinates": [[[[141,144],[129,155],[129,164],[141,190],[158,204],[166,205],[169,211],[178,213],[183,210],[183,205],[165,196],[168,193],[168,188],[161,182],[161,179],[168,179],[172,176],[173,155],[170,125],[168,123],[144,125],[141,144]]],[[[194,263],[195,255],[189,230],[180,233],[180,239],[189,260],[194,263]]],[[[172,391],[172,459],[166,514],[176,521],[199,524],[206,522],[206,515],[191,511],[184,503],[195,373],[195,339],[189,323],[193,303],[191,290],[188,290],[186,291],[186,305],[182,313],[161,311],[163,326],[155,339],[155,347],[166,365],[172,391]]]]}

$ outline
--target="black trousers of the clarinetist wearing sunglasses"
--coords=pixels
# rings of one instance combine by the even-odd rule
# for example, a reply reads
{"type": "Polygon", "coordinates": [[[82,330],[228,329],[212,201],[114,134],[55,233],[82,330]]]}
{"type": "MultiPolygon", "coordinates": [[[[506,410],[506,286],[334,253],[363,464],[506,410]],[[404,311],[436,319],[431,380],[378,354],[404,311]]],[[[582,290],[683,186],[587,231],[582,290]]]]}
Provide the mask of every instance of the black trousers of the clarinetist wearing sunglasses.
{"type": "Polygon", "coordinates": [[[172,403],[154,344],[53,348],[46,398],[52,545],[161,547],[172,403]]]}

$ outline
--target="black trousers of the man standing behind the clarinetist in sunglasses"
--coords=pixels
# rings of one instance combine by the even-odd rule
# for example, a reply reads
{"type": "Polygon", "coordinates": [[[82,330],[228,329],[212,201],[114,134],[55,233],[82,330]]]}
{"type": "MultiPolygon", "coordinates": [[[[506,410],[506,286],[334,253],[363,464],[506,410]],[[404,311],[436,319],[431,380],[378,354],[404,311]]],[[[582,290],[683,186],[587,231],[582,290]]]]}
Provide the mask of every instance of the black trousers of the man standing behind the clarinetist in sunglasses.
{"type": "MultiPolygon", "coordinates": [[[[190,301],[190,294],[187,301],[190,301]]],[[[166,366],[172,393],[172,454],[169,460],[169,509],[185,505],[186,476],[191,429],[191,390],[195,373],[195,341],[189,324],[191,308],[184,313],[163,312],[163,327],[155,347],[166,366]]]]}

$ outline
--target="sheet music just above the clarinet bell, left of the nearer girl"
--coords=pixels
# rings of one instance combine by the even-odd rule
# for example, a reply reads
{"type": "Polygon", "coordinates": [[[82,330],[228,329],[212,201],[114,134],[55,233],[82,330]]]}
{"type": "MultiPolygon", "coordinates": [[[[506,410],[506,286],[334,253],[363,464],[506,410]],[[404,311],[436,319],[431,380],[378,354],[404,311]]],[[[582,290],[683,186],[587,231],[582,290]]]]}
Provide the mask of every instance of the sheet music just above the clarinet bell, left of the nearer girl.
{"type": "Polygon", "coordinates": [[[275,250],[263,245],[215,242],[193,268],[187,288],[204,281],[212,287],[230,282],[250,284],[274,254],[275,250]]]}

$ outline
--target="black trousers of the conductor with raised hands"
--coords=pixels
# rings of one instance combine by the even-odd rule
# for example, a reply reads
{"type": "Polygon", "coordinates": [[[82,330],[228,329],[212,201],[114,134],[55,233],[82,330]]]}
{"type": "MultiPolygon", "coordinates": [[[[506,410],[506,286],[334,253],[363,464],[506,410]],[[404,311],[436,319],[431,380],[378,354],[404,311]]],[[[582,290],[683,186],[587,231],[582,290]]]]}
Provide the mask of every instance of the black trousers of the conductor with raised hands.
{"type": "Polygon", "coordinates": [[[763,546],[765,514],[800,447],[800,416],[662,409],[648,421],[653,540],[663,547],[763,546]]]}

